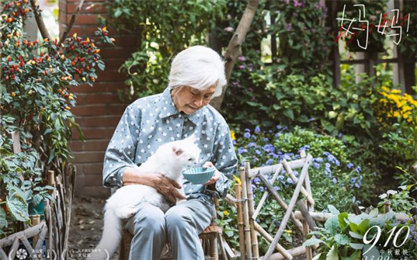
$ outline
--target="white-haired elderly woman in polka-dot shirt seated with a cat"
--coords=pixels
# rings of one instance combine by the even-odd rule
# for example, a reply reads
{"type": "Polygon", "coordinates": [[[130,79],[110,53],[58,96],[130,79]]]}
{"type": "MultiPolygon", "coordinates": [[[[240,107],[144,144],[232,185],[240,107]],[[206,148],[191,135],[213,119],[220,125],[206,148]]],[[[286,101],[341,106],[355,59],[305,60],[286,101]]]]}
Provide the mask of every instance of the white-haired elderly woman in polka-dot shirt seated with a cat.
{"type": "Polygon", "coordinates": [[[161,94],[140,98],[126,108],[104,158],[106,187],[145,184],[175,202],[165,214],[143,203],[132,220],[129,259],[160,259],[165,243],[170,243],[175,259],[204,259],[198,234],[211,223],[212,196],[225,196],[229,178],[238,160],[223,117],[208,103],[226,85],[220,55],[204,46],[181,51],[172,61],[169,84],[161,94]],[[198,166],[215,166],[206,184],[182,184],[158,173],[142,173],[142,164],[159,145],[184,139],[195,133],[202,153],[198,166]]]}

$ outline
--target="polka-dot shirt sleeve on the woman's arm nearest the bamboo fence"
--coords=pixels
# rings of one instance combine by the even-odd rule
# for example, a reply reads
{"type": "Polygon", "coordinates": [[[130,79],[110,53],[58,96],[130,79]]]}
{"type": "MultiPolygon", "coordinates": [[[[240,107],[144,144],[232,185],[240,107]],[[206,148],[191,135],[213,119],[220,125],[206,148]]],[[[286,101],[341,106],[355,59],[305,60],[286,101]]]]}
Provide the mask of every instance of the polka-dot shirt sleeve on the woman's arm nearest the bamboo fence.
{"type": "Polygon", "coordinates": [[[213,147],[213,163],[220,172],[220,178],[215,182],[215,190],[221,198],[224,198],[230,189],[230,179],[238,166],[238,158],[234,151],[229,126],[224,123],[219,128],[213,147]]]}

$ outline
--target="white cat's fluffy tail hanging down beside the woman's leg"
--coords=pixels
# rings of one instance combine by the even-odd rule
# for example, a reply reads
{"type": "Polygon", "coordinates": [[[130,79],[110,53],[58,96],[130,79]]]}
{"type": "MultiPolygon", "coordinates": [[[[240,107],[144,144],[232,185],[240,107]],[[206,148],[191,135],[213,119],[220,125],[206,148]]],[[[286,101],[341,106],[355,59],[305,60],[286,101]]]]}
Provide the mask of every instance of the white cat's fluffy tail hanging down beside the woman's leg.
{"type": "Polygon", "coordinates": [[[95,248],[94,252],[92,252],[89,259],[111,259],[119,246],[121,236],[122,219],[117,216],[115,209],[106,207],[106,211],[104,213],[103,235],[101,236],[99,244],[95,248]]]}

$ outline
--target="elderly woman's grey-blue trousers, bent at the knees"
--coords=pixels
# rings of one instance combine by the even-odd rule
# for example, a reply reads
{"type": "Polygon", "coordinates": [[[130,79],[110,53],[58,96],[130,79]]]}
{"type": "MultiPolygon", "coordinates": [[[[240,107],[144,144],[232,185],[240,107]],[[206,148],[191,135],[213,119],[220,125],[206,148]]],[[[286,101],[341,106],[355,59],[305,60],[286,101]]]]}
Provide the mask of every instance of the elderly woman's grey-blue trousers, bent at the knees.
{"type": "Polygon", "coordinates": [[[163,213],[143,203],[126,223],[133,234],[129,260],[159,260],[165,243],[170,243],[174,259],[202,259],[204,253],[198,235],[211,223],[213,205],[191,199],[163,213]]]}

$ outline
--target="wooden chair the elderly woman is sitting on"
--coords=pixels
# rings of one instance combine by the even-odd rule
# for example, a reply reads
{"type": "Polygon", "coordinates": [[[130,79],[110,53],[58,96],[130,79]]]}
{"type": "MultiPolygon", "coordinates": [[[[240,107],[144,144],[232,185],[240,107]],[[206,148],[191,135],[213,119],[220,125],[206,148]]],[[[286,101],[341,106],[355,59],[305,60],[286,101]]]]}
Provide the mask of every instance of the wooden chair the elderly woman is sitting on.
{"type": "MultiPolygon", "coordinates": [[[[217,198],[214,198],[214,206],[215,209],[218,209],[217,198]]],[[[213,214],[211,224],[206,229],[204,229],[202,234],[199,234],[199,238],[200,241],[202,241],[204,256],[206,260],[227,260],[226,250],[224,249],[224,241],[222,239],[222,228],[218,226],[217,223],[215,223],[215,214],[216,213],[213,214]],[[222,252],[220,254],[221,258],[219,258],[218,253],[218,239],[220,239],[220,250],[222,252]]],[[[120,241],[119,260],[129,259],[129,252],[131,248],[132,239],[133,235],[126,229],[123,229],[122,239],[120,241]]],[[[165,245],[161,259],[174,259],[174,257],[172,257],[172,252],[170,250],[169,244],[165,245]]]]}

